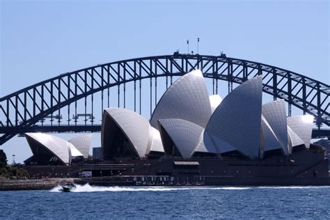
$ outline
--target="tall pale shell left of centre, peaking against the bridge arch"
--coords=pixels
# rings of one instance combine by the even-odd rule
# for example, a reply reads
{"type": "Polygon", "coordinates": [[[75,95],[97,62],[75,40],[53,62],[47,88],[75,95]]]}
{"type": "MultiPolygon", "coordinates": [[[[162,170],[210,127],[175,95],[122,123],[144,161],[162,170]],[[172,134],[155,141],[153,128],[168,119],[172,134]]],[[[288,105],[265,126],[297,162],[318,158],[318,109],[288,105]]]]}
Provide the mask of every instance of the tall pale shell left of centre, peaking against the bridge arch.
{"type": "Polygon", "coordinates": [[[205,127],[211,114],[203,74],[201,70],[194,70],[168,88],[152,113],[150,125],[158,129],[157,120],[179,118],[205,127]]]}

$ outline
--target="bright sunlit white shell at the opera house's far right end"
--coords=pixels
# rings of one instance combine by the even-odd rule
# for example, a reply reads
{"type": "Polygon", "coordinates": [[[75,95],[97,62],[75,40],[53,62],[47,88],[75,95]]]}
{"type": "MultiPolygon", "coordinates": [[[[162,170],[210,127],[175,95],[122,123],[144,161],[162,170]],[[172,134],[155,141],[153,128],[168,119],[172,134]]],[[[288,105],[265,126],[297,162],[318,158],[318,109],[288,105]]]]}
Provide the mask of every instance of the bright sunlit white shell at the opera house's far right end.
{"type": "Polygon", "coordinates": [[[313,116],[291,116],[288,117],[288,126],[292,131],[304,141],[306,148],[311,145],[311,137],[313,132],[313,116]]]}

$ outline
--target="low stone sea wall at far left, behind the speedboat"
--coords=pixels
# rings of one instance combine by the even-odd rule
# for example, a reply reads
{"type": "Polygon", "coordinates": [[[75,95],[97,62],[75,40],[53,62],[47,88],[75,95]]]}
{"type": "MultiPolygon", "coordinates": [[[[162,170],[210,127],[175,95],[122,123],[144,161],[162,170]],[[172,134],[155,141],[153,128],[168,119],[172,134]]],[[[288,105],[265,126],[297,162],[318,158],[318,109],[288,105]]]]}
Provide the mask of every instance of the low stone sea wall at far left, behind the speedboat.
{"type": "Polygon", "coordinates": [[[73,178],[47,178],[33,180],[0,180],[0,191],[52,189],[58,184],[74,182],[73,178]]]}

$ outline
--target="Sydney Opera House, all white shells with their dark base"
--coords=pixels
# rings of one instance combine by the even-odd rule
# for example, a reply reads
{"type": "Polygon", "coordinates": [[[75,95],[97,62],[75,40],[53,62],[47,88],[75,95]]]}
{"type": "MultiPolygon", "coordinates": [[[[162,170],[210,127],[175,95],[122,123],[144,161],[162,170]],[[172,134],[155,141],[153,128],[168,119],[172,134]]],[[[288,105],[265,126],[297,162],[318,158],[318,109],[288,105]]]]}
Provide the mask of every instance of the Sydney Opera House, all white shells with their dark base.
{"type": "MultiPolygon", "coordinates": [[[[104,110],[102,168],[95,165],[93,175],[135,182],[147,175],[176,183],[317,184],[328,176],[328,160],[324,149],[311,145],[312,127],[313,116],[287,117],[284,100],[262,104],[261,75],[221,98],[208,94],[202,72],[194,70],[168,88],[150,120],[129,109],[104,110]]],[[[26,139],[30,164],[79,162],[91,144],[91,136],[26,139]]]]}

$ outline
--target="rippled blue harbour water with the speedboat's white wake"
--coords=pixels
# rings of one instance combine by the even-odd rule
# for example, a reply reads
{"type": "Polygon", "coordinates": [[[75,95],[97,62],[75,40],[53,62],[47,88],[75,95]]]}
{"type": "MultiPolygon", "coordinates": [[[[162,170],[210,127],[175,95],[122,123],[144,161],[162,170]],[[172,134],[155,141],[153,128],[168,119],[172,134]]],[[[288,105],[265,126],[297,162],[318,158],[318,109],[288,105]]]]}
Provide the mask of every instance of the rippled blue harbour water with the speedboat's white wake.
{"type": "Polygon", "coordinates": [[[1,219],[330,219],[330,187],[0,191],[1,219]]]}

